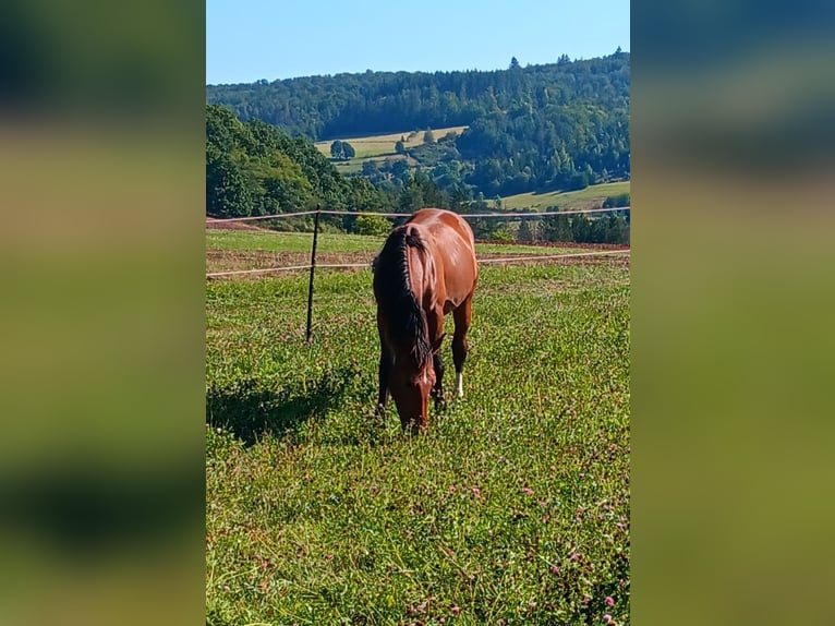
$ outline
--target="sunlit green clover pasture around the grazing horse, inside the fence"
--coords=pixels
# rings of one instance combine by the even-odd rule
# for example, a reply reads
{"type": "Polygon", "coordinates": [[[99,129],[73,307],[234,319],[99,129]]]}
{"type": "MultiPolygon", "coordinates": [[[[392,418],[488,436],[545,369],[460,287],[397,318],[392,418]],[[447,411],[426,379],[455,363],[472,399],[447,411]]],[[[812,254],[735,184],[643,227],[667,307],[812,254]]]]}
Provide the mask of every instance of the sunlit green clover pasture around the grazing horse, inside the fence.
{"type": "Polygon", "coordinates": [[[628,284],[483,266],[467,396],[412,438],[372,419],[368,270],[318,275],[311,346],[306,276],[208,282],[207,624],[629,623],[628,284]]]}

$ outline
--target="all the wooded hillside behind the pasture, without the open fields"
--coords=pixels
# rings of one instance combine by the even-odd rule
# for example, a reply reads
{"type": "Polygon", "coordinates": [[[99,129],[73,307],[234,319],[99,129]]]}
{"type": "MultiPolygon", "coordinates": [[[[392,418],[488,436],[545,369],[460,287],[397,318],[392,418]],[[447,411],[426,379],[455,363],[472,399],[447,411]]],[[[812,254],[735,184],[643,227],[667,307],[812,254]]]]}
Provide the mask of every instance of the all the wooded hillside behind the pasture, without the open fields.
{"type": "MultiPolygon", "coordinates": [[[[500,206],[505,195],[629,179],[629,55],[620,50],[525,68],[511,59],[507,70],[492,72],[366,72],[209,85],[207,100],[207,213],[215,217],[316,206],[481,213],[500,206]],[[467,129],[460,135],[432,133],[455,124],[467,129]],[[366,160],[360,172],[343,176],[334,161],[353,156],[350,144],[335,142],[330,159],[313,145],[385,132],[429,137],[404,151],[416,165],[366,160]]],[[[607,202],[628,205],[628,197],[607,202]]],[[[561,220],[542,220],[540,228],[534,220],[475,226],[481,237],[497,240],[628,239],[628,217],[561,220]]],[[[326,221],[347,231],[385,232],[390,225],[382,217],[326,221]]],[[[308,226],[300,218],[282,227],[308,226]]]]}

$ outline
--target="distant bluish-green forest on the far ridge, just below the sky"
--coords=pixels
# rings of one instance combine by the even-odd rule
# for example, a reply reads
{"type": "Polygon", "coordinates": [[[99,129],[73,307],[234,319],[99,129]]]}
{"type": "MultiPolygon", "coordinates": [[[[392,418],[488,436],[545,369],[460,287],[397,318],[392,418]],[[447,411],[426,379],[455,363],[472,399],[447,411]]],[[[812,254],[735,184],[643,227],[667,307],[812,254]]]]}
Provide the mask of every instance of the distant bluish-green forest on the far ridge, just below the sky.
{"type": "MultiPolygon", "coordinates": [[[[468,125],[407,154],[444,190],[582,189],[630,171],[630,56],[491,72],[366,72],[209,85],[242,120],[311,140],[468,125]]],[[[367,174],[364,174],[367,176],[367,174]]]]}

